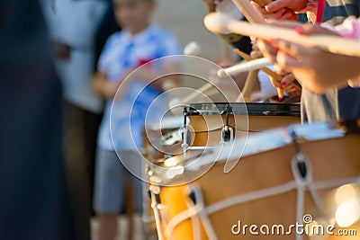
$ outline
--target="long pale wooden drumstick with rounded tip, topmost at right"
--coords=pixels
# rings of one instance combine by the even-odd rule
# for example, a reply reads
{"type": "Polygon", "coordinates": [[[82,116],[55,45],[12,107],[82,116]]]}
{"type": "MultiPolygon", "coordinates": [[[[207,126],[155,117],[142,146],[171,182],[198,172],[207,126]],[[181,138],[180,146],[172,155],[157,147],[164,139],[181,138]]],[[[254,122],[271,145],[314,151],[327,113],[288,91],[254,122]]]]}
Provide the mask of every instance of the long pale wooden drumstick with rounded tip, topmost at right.
{"type": "Polygon", "coordinates": [[[290,40],[305,47],[317,47],[335,54],[360,57],[360,41],[358,40],[347,40],[324,34],[302,36],[291,29],[269,24],[241,22],[221,13],[209,13],[205,16],[204,23],[209,31],[215,33],[231,31],[264,40],[290,40]]]}

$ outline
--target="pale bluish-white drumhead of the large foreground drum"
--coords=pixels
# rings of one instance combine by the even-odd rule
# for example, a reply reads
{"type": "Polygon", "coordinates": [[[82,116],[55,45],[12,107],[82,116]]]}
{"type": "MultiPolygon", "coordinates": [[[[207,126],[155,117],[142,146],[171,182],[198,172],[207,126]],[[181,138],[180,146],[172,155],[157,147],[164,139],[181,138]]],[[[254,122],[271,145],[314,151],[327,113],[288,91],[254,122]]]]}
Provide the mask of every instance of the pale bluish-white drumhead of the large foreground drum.
{"type": "Polygon", "coordinates": [[[324,122],[295,124],[287,128],[266,130],[249,135],[247,138],[236,138],[231,143],[205,148],[202,152],[175,156],[168,161],[178,164],[154,173],[153,177],[157,178],[159,182],[156,183],[159,185],[178,185],[184,181],[194,180],[201,177],[203,169],[210,169],[213,164],[226,163],[235,166],[241,157],[285,147],[293,142],[292,133],[305,141],[344,137],[343,131],[331,129],[329,124],[324,122]],[[169,172],[171,172],[170,178],[168,177],[169,172]]]}

